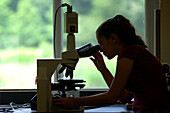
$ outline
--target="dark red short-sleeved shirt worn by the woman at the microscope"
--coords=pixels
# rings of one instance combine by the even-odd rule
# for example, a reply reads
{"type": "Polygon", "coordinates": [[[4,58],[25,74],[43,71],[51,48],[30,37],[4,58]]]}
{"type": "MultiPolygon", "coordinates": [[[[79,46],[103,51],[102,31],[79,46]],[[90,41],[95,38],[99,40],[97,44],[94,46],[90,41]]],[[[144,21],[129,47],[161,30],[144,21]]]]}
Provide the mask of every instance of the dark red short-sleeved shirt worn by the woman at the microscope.
{"type": "Polygon", "coordinates": [[[168,108],[166,76],[159,60],[139,45],[129,45],[118,55],[134,60],[126,89],[134,94],[134,112],[168,108]]]}

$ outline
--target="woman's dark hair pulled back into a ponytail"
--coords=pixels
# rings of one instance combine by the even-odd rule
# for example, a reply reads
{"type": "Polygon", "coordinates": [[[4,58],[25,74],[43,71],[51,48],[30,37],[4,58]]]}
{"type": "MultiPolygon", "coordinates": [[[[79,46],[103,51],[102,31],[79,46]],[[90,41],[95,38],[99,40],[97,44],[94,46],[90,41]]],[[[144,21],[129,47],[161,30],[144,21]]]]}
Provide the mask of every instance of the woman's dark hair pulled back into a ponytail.
{"type": "Polygon", "coordinates": [[[96,30],[97,36],[105,36],[107,39],[111,33],[116,34],[125,45],[137,44],[147,47],[142,38],[136,34],[134,26],[122,15],[106,20],[96,30]]]}

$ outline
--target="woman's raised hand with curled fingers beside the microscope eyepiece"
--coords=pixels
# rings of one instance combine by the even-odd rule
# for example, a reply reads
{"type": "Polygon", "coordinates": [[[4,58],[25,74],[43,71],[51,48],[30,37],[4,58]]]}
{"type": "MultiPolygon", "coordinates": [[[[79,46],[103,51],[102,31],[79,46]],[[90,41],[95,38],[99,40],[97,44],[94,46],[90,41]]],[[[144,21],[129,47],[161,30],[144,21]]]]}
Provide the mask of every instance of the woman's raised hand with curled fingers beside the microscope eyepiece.
{"type": "Polygon", "coordinates": [[[97,52],[96,54],[94,54],[93,57],[94,58],[91,57],[90,59],[93,61],[93,63],[95,64],[95,66],[100,72],[106,69],[103,56],[100,52],[97,52]]]}

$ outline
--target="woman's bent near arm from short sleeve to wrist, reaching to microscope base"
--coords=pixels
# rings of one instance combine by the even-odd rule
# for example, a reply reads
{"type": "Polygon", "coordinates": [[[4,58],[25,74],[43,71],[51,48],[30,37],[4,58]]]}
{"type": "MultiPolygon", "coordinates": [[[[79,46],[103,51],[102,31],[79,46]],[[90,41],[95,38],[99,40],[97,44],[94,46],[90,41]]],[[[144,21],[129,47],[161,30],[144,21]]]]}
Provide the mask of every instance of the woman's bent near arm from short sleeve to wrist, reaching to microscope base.
{"type": "Polygon", "coordinates": [[[115,79],[106,93],[76,98],[80,106],[105,106],[114,104],[119,99],[132,70],[133,60],[121,58],[118,61],[115,79]]]}

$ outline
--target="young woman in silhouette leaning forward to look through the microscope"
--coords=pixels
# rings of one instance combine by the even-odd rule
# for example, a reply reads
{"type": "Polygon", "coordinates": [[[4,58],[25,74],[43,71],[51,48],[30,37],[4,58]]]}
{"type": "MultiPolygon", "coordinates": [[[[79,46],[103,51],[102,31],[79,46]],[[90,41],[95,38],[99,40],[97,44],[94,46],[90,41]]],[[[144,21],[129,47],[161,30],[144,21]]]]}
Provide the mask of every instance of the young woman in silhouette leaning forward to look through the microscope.
{"type": "Polygon", "coordinates": [[[100,52],[108,59],[118,55],[115,77],[107,69],[100,52],[90,58],[103,75],[109,90],[88,97],[56,99],[55,104],[65,109],[106,106],[116,103],[118,99],[129,100],[132,93],[135,113],[168,112],[168,89],[162,65],[146,49],[147,46],[136,34],[130,21],[122,15],[116,15],[99,26],[96,38],[101,46],[100,52]]]}

